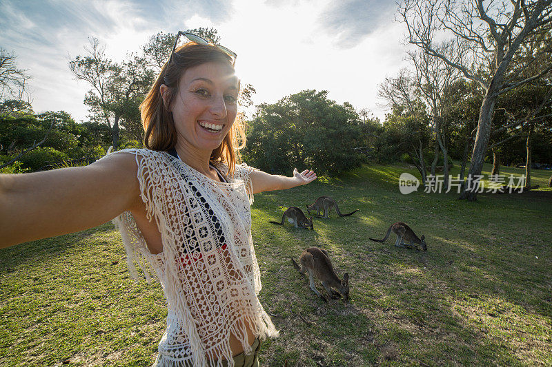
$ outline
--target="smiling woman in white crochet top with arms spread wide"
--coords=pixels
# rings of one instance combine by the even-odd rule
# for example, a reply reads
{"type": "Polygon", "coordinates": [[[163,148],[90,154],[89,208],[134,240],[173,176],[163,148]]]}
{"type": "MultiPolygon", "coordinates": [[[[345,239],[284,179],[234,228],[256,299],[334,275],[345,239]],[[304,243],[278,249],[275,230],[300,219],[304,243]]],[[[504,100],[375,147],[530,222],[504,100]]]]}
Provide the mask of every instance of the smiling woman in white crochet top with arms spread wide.
{"type": "Polygon", "coordinates": [[[195,42],[173,48],[141,105],[148,149],[88,167],[0,176],[0,238],[6,247],[116,217],[130,271],[137,263],[148,277],[147,262],[166,296],[156,366],[257,366],[259,342],[277,331],[257,299],[253,193],[316,175],[236,164],[243,129],[235,54],[185,35],[195,42]]]}

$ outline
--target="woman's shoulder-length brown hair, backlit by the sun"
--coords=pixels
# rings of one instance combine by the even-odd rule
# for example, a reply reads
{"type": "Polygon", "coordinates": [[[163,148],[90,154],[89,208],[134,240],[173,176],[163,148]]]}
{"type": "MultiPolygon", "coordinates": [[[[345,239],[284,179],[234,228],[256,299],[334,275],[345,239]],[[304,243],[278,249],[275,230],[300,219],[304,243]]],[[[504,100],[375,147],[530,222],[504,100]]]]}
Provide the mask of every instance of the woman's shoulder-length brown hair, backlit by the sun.
{"type": "MultiPolygon", "coordinates": [[[[232,66],[232,59],[214,45],[198,45],[188,42],[175,51],[170,64],[163,65],[161,73],[153,83],[150,92],[140,105],[141,120],[144,125],[144,145],[148,149],[166,151],[175,147],[177,132],[175,121],[168,106],[178,94],[180,78],[189,67],[208,62],[219,62],[232,66]],[[161,84],[167,85],[170,90],[168,105],[163,103],[159,91],[161,84]]],[[[211,162],[224,162],[228,165],[228,174],[233,175],[236,161],[239,160],[239,149],[246,143],[244,121],[238,114],[232,128],[222,140],[221,145],[211,153],[211,162]]]]}

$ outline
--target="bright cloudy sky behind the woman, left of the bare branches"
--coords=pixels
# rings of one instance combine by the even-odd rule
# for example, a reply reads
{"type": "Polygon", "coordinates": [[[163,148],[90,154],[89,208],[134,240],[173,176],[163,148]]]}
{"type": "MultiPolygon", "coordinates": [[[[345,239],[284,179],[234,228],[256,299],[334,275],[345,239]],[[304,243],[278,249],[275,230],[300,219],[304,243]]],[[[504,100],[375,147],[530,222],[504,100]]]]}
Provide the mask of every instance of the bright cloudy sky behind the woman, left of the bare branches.
{"type": "Polygon", "coordinates": [[[407,65],[395,10],[395,0],[0,0],[0,48],[32,76],[35,112],[64,110],[80,121],[90,87],[68,61],[85,54],[89,37],[119,62],[158,32],[214,27],[237,53],[242,83],[257,90],[256,105],[327,90],[383,120],[377,86],[407,65]]]}

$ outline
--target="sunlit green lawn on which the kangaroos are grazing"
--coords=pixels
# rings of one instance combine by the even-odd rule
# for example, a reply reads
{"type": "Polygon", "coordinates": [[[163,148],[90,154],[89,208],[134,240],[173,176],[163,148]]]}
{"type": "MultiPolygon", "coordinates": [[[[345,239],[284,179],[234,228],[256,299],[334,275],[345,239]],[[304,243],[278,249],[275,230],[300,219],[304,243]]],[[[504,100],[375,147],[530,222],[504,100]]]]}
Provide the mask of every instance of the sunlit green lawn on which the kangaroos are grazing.
{"type": "MultiPolygon", "coordinates": [[[[552,366],[552,172],[532,171],[538,191],[466,202],[420,189],[404,196],[403,171],[416,174],[366,165],[255,196],[260,298],[280,330],[262,346],[262,366],[552,366]],[[315,218],[314,231],[267,223],[321,195],[360,210],[315,218]],[[426,236],[426,253],[368,240],[398,220],[426,236]],[[350,274],[347,304],[317,299],[291,265],[312,246],[350,274]]],[[[111,224],[0,251],[0,284],[2,366],[152,364],[165,327],[161,287],[132,282],[111,224]]]]}

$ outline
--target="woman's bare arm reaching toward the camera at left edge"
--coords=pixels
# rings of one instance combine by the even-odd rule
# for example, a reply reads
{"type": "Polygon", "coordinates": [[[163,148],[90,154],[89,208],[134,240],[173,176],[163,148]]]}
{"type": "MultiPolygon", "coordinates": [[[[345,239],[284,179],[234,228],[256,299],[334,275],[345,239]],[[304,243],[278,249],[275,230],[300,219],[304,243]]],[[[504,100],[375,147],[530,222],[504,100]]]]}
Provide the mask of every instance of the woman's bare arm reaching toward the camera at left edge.
{"type": "Polygon", "coordinates": [[[141,203],[134,154],[86,167],[0,174],[0,248],[96,227],[141,203]]]}

